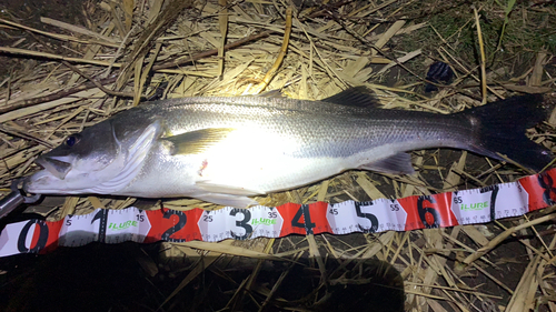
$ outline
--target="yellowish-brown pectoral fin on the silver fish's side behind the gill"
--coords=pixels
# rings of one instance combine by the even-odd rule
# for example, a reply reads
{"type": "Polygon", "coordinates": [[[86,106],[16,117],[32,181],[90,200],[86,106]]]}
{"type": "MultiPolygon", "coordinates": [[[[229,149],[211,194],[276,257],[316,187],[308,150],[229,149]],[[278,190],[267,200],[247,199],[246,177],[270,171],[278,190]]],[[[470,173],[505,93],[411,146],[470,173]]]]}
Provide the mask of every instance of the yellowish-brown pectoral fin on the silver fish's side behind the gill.
{"type": "Polygon", "coordinates": [[[226,139],[234,130],[232,128],[208,128],[161,138],[161,140],[170,143],[170,153],[172,155],[197,154],[226,139]]]}

